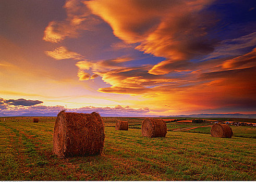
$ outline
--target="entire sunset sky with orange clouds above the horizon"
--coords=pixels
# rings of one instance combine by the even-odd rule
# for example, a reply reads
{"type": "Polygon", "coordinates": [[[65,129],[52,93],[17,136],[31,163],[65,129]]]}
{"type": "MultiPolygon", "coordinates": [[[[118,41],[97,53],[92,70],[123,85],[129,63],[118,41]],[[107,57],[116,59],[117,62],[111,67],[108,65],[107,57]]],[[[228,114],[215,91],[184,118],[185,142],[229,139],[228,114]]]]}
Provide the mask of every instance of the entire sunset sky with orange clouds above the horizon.
{"type": "Polygon", "coordinates": [[[0,116],[255,114],[255,6],[2,0],[0,116]]]}

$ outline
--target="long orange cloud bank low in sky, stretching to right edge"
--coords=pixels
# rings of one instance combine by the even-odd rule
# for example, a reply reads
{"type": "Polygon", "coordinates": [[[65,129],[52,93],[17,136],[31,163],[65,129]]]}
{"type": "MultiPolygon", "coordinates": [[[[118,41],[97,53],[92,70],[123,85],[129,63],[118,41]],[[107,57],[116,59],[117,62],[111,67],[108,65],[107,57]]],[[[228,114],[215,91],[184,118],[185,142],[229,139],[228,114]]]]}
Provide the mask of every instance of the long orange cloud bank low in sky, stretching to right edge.
{"type": "MultiPolygon", "coordinates": [[[[251,53],[245,55],[244,57],[248,57],[251,53]]],[[[115,60],[111,61],[115,62],[115,60]]],[[[79,61],[77,66],[85,71],[90,70],[101,76],[104,82],[112,85],[99,88],[99,92],[143,96],[146,100],[136,103],[154,107],[151,109],[152,112],[160,112],[160,110],[166,113],[204,112],[205,108],[216,112],[220,112],[223,108],[229,109],[230,112],[241,108],[249,112],[256,107],[254,93],[256,67],[246,69],[237,69],[237,67],[223,71],[222,63],[225,60],[220,59],[216,62],[198,63],[196,64],[198,71],[191,73],[153,75],[148,73],[151,66],[126,67],[119,64],[116,68],[103,67],[103,64],[109,65],[107,62],[79,61]],[[211,66],[212,69],[208,68],[211,66]]]]}

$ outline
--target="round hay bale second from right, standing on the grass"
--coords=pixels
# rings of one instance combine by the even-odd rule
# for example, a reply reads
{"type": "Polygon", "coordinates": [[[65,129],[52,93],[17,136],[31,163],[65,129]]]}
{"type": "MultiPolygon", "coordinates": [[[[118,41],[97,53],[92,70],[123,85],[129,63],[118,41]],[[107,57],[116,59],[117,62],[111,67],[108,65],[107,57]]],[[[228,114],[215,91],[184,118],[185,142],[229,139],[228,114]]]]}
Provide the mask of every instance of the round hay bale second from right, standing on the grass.
{"type": "Polygon", "coordinates": [[[162,119],[146,118],[142,122],[141,133],[145,137],[165,137],[167,133],[166,123],[162,119]]]}

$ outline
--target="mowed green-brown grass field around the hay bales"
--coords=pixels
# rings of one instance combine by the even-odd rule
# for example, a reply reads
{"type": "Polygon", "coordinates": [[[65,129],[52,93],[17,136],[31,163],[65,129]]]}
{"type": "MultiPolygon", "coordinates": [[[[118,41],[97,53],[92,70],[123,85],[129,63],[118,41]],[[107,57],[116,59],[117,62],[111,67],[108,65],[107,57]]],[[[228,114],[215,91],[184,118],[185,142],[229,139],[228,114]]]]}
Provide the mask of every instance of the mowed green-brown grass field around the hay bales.
{"type": "Polygon", "coordinates": [[[54,122],[0,122],[1,180],[255,180],[256,140],[105,127],[102,155],[59,159],[54,122]]]}

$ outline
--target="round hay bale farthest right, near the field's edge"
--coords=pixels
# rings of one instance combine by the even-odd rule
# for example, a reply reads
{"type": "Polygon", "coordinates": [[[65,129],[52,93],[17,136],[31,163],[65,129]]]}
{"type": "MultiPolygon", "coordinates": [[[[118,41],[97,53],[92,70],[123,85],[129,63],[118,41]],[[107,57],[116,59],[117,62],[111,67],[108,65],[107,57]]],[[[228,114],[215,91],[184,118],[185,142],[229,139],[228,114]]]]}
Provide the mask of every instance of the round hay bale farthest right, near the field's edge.
{"type": "Polygon", "coordinates": [[[227,124],[216,123],[211,128],[212,137],[231,138],[233,136],[232,129],[227,124]]]}

